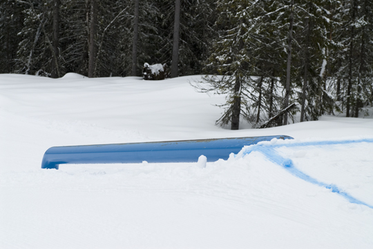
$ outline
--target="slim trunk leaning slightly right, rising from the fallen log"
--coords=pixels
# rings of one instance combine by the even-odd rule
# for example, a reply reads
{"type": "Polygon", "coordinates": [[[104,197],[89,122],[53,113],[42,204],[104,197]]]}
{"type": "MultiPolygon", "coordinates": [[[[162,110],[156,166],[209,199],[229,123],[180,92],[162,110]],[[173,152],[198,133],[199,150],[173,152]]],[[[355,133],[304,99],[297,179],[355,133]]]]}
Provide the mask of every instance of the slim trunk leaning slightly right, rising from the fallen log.
{"type": "MultiPolygon", "coordinates": [[[[294,0],[291,0],[291,12],[290,12],[290,27],[289,27],[289,44],[287,46],[287,70],[286,70],[286,88],[285,88],[285,100],[284,109],[289,106],[289,95],[290,95],[290,70],[291,70],[291,43],[293,41],[293,23],[294,23],[294,0]]],[[[284,114],[284,126],[287,125],[287,112],[284,114]]]]}

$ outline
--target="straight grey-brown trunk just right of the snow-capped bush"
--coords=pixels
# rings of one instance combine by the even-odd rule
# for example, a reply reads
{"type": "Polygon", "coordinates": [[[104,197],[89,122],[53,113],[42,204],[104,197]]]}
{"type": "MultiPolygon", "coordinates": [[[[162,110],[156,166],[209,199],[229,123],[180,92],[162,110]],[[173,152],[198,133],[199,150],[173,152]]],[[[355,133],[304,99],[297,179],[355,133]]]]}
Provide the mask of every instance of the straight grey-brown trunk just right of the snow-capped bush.
{"type": "Polygon", "coordinates": [[[173,25],[173,48],[172,48],[171,78],[178,77],[180,6],[181,6],[180,1],[181,0],[176,0],[175,1],[175,23],[173,25]]]}

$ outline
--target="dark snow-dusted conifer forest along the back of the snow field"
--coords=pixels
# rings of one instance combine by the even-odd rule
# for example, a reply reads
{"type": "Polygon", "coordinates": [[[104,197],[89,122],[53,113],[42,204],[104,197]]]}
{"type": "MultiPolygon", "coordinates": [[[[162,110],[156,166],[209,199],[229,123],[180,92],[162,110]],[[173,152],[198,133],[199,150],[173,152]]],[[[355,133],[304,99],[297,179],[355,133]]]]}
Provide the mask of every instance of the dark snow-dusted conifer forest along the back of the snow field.
{"type": "Polygon", "coordinates": [[[202,74],[236,130],[364,117],[373,102],[372,0],[1,0],[0,73],[59,78],[202,74]]]}

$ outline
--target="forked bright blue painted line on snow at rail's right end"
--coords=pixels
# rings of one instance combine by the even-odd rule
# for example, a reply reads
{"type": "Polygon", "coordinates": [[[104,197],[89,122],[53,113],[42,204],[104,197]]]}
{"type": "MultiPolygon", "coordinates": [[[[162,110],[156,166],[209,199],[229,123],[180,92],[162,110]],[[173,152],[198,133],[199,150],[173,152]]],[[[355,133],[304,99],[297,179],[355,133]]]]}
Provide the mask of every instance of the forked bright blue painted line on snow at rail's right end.
{"type": "Polygon", "coordinates": [[[360,201],[352,197],[351,195],[347,194],[346,192],[343,192],[336,185],[323,183],[322,181],[318,181],[314,179],[313,177],[310,177],[309,175],[305,174],[304,172],[298,170],[294,166],[294,163],[293,161],[291,161],[291,159],[282,157],[281,155],[278,154],[278,152],[276,152],[276,150],[274,150],[274,148],[279,148],[279,147],[329,146],[329,145],[348,144],[348,143],[373,143],[373,139],[359,139],[359,140],[347,140],[347,141],[314,141],[314,142],[305,142],[305,143],[288,143],[288,144],[274,144],[274,145],[257,144],[257,145],[249,146],[247,150],[245,151],[245,154],[249,154],[250,152],[253,152],[253,151],[261,152],[263,155],[265,155],[269,159],[269,161],[272,161],[278,164],[279,166],[282,166],[291,175],[294,175],[295,177],[308,181],[309,183],[313,183],[317,186],[330,189],[332,190],[332,192],[338,195],[341,195],[343,198],[347,199],[347,201],[350,201],[350,203],[364,205],[364,206],[367,206],[368,208],[373,209],[373,206],[371,206],[370,204],[360,201]]]}

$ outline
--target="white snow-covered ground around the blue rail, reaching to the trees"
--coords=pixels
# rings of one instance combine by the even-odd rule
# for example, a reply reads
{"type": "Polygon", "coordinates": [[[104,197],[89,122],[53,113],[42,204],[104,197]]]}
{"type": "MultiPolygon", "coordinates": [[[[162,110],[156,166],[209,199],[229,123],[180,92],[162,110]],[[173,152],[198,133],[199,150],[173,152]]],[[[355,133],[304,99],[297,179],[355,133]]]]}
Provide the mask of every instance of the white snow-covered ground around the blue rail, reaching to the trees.
{"type": "Polygon", "coordinates": [[[222,129],[195,79],[0,74],[0,248],[373,248],[372,116],[222,129]],[[294,140],[206,168],[41,169],[52,146],[265,135],[294,140]]]}

